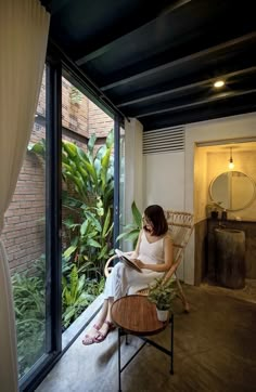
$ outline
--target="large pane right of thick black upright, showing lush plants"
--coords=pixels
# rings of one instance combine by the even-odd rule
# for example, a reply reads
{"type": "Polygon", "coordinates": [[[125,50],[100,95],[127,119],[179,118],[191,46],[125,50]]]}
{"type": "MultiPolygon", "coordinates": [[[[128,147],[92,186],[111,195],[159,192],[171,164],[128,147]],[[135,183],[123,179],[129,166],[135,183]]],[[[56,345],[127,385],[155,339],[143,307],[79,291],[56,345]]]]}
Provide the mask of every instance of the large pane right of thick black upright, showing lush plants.
{"type": "Polygon", "coordinates": [[[62,127],[64,348],[73,323],[102,291],[113,248],[114,121],[63,77],[62,127]]]}

